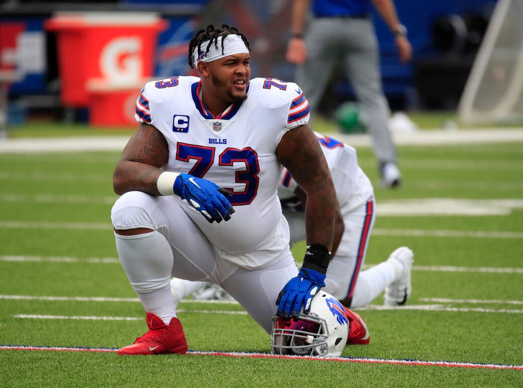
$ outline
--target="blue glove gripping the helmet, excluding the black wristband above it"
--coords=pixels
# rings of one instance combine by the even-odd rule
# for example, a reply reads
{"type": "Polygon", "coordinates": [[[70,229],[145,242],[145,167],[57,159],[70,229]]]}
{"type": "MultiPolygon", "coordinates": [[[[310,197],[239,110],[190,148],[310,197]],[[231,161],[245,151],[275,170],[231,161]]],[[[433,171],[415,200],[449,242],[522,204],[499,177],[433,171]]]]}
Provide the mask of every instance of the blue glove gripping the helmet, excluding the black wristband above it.
{"type": "Polygon", "coordinates": [[[321,272],[302,267],[298,276],[289,280],[280,291],[276,315],[290,319],[298,318],[302,310],[309,313],[313,296],[325,287],[325,277],[321,272]]]}

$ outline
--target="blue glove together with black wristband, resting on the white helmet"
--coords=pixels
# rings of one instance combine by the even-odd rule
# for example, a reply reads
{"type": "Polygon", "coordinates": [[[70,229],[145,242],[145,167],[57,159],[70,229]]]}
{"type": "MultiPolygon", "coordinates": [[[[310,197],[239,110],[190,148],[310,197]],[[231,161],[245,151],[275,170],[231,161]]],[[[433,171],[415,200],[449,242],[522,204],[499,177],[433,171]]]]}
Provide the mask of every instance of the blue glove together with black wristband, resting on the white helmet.
{"type": "Polygon", "coordinates": [[[307,248],[298,276],[287,282],[278,295],[277,316],[285,319],[298,318],[303,311],[311,311],[312,298],[325,287],[325,274],[331,253],[323,245],[314,244],[307,248]]]}

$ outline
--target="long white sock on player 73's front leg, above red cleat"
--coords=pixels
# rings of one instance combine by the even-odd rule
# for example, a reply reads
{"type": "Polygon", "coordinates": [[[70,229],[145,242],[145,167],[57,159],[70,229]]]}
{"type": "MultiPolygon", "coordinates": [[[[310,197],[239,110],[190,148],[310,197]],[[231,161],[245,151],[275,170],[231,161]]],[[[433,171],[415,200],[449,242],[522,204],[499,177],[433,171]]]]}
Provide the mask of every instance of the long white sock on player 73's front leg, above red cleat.
{"type": "Polygon", "coordinates": [[[123,270],[145,311],[157,315],[168,325],[170,318],[176,316],[169,282],[173,268],[169,242],[157,231],[135,236],[115,233],[115,237],[123,270]]]}

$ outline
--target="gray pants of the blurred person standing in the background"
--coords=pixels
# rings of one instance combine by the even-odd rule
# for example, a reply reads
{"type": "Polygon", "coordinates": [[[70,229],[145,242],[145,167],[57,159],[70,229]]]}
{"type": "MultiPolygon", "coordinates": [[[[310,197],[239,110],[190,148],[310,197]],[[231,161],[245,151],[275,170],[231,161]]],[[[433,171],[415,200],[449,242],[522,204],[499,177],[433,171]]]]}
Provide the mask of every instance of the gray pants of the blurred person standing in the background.
{"type": "Polygon", "coordinates": [[[396,163],[396,150],[389,130],[389,105],[383,94],[379,47],[370,19],[312,19],[305,33],[308,59],[299,66],[297,84],[309,100],[311,115],[320,100],[335,65],[344,62],[347,78],[361,108],[369,116],[368,132],[380,164],[396,163]]]}

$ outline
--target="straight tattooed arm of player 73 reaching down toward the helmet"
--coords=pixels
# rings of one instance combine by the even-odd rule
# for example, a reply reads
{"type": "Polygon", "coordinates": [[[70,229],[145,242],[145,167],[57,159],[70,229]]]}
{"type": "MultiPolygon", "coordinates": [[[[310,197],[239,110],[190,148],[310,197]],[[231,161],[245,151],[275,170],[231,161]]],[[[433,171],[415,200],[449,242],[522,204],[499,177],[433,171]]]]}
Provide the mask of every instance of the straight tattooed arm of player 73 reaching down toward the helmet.
{"type": "Polygon", "coordinates": [[[309,125],[301,125],[283,135],[277,155],[307,196],[307,245],[321,244],[332,250],[338,210],[336,190],[320,143],[309,125]]]}

